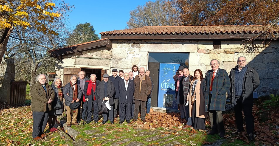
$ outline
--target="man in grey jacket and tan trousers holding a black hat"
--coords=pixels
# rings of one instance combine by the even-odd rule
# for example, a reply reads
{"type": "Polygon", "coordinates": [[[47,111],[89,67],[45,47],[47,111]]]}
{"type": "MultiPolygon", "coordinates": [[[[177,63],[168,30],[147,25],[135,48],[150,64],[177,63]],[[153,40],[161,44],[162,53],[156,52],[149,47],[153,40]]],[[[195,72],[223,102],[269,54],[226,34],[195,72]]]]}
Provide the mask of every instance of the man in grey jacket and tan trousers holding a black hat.
{"type": "Polygon", "coordinates": [[[76,83],[77,77],[75,75],[71,76],[70,82],[65,85],[63,94],[65,98],[65,105],[66,105],[66,115],[67,115],[67,127],[71,127],[72,125],[78,125],[76,122],[76,118],[78,116],[78,109],[73,110],[73,119],[71,118],[71,109],[70,104],[74,102],[78,102],[81,99],[81,89],[80,85],[76,83]]]}

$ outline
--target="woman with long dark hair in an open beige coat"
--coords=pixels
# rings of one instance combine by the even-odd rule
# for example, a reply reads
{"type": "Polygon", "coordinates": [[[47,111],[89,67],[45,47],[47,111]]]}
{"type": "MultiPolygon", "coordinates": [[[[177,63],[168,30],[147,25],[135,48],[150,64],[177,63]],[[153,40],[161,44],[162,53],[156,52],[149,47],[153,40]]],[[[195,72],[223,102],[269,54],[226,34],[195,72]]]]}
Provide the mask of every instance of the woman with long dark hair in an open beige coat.
{"type": "Polygon", "coordinates": [[[189,101],[189,114],[192,117],[192,126],[199,131],[205,130],[205,96],[203,87],[203,73],[200,69],[194,71],[194,78],[190,83],[187,100],[189,101]]]}

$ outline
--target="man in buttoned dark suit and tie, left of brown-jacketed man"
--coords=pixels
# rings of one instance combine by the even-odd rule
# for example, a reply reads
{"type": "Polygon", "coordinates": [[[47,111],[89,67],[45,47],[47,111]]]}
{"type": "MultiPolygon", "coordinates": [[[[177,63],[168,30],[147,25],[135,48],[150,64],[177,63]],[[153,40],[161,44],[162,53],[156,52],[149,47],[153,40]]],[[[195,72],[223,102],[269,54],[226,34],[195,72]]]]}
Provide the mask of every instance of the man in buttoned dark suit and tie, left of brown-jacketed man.
{"type": "Polygon", "coordinates": [[[123,124],[126,116],[127,123],[131,123],[131,109],[134,96],[134,81],[129,79],[129,74],[124,73],[124,79],[118,81],[119,87],[119,124],[123,124]],[[126,113],[126,115],[125,115],[126,113]]]}

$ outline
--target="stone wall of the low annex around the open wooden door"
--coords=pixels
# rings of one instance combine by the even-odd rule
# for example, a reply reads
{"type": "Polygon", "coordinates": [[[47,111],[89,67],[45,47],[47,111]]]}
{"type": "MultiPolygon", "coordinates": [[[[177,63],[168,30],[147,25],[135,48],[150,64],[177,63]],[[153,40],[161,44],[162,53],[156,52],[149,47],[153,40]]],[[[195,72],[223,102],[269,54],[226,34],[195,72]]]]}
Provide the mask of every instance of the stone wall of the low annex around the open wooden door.
{"type": "Polygon", "coordinates": [[[74,54],[57,59],[55,64],[56,77],[63,82],[65,68],[99,68],[110,71],[111,49],[106,47],[82,52],[82,55],[74,54]]]}

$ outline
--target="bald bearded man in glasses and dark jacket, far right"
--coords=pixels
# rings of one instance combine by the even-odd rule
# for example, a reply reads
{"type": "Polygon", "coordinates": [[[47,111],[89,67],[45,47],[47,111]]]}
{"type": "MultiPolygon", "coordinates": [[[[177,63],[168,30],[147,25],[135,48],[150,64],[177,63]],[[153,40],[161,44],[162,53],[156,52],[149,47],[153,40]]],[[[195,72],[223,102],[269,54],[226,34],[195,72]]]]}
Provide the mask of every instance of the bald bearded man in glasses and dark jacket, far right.
{"type": "Polygon", "coordinates": [[[230,100],[234,107],[237,131],[239,134],[243,129],[242,109],[245,116],[246,130],[249,140],[254,140],[254,117],[252,115],[253,91],[259,86],[259,75],[253,68],[246,66],[246,59],[240,56],[237,66],[230,71],[230,100]]]}

